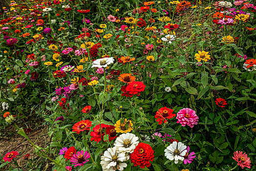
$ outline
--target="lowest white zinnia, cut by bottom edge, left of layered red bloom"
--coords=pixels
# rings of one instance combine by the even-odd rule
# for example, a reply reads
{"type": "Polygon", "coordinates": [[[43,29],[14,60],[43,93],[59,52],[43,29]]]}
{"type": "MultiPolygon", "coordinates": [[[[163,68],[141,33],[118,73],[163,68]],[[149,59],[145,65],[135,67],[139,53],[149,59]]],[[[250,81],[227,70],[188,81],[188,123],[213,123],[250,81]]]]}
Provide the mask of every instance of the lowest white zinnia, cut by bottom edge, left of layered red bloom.
{"type": "Polygon", "coordinates": [[[101,156],[101,166],[103,171],[124,171],[127,167],[126,163],[122,163],[129,159],[125,153],[118,153],[116,147],[108,148],[104,155],[101,156]]]}

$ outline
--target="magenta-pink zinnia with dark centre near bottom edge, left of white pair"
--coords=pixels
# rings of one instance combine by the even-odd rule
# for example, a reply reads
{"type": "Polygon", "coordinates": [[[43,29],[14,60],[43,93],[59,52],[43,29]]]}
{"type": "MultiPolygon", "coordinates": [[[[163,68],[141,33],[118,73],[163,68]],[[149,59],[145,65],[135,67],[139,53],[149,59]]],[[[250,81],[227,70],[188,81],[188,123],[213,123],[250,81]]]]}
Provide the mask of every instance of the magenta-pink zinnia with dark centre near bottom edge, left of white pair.
{"type": "Polygon", "coordinates": [[[73,154],[73,156],[70,158],[70,162],[74,164],[75,167],[84,166],[85,163],[89,161],[87,160],[88,158],[90,158],[88,151],[77,151],[77,153],[73,154]]]}

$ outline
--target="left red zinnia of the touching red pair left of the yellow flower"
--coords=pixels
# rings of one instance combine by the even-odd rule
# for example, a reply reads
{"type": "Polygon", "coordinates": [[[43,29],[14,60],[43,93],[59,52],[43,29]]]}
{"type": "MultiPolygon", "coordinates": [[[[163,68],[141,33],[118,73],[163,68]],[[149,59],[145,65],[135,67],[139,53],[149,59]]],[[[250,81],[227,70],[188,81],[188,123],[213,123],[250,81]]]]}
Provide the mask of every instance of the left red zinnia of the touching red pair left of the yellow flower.
{"type": "Polygon", "coordinates": [[[91,141],[96,141],[99,143],[101,140],[103,140],[104,135],[106,135],[105,132],[107,127],[109,127],[109,125],[99,124],[92,128],[93,131],[90,133],[90,136],[92,136],[91,141]]]}

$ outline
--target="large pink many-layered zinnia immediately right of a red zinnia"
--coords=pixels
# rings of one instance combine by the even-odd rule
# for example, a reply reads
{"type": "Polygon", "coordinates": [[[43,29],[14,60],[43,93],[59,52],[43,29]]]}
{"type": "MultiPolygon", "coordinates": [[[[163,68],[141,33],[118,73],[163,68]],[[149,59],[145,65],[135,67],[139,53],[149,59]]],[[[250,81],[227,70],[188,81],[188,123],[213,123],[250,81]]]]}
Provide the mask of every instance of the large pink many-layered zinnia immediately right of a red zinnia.
{"type": "Polygon", "coordinates": [[[176,119],[178,119],[177,123],[180,123],[182,127],[188,125],[193,128],[194,125],[197,125],[198,116],[191,108],[183,108],[177,113],[176,119]]]}

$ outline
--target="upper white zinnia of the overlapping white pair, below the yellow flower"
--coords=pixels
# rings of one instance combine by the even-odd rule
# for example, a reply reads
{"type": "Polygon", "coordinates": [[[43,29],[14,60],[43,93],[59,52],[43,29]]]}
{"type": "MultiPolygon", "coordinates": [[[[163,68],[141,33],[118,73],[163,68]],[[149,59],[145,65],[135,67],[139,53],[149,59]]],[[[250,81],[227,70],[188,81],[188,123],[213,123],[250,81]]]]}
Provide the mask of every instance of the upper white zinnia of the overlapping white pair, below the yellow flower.
{"type": "Polygon", "coordinates": [[[123,133],[116,138],[114,146],[117,152],[132,153],[136,146],[139,144],[139,138],[132,133],[123,133]]]}

